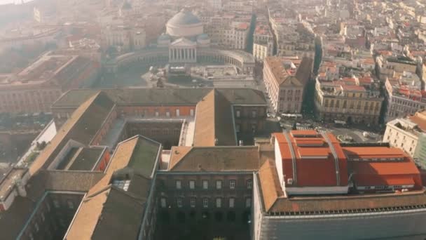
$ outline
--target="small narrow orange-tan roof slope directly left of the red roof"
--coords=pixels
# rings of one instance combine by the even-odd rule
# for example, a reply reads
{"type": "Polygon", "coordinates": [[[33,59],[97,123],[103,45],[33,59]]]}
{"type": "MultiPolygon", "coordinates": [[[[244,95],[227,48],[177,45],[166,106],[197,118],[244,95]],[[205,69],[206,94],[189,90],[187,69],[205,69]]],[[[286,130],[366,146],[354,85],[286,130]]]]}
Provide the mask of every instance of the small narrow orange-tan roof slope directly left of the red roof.
{"type": "Polygon", "coordinates": [[[268,212],[270,208],[275,204],[275,201],[279,197],[284,196],[280,185],[280,179],[278,178],[277,168],[273,161],[266,161],[257,174],[260,182],[261,194],[263,197],[263,205],[265,210],[268,212]]]}

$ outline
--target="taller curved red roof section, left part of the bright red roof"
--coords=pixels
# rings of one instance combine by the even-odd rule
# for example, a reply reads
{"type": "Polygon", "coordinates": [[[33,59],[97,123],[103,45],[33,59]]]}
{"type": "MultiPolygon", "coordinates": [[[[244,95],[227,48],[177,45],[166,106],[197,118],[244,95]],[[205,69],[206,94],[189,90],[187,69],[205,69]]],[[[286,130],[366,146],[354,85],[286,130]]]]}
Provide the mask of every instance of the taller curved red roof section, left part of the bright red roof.
{"type": "Polygon", "coordinates": [[[293,185],[287,187],[329,187],[348,185],[348,169],[345,154],[334,135],[327,134],[329,142],[317,131],[291,131],[287,133],[275,133],[275,139],[280,147],[282,156],[282,173],[287,184],[289,178],[293,179],[293,185]],[[317,137],[312,137],[312,136],[317,137]],[[331,146],[337,156],[338,175],[336,178],[336,161],[331,146]],[[294,161],[291,155],[294,152],[294,161]],[[293,172],[295,171],[296,176],[293,172]]]}

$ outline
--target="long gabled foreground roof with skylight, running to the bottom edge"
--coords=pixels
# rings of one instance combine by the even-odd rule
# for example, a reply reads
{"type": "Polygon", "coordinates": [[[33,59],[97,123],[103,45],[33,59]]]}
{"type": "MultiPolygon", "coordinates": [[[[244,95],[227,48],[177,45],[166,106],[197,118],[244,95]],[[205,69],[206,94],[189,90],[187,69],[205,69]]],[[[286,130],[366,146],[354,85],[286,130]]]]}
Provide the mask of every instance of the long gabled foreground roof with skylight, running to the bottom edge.
{"type": "Polygon", "coordinates": [[[111,234],[109,236],[121,234],[120,236],[129,237],[125,239],[135,239],[133,236],[137,234],[143,216],[142,204],[148,196],[149,184],[146,181],[150,181],[159,148],[158,143],[142,136],[135,136],[119,143],[104,177],[88,191],[83,199],[83,204],[69,227],[67,239],[103,239],[102,236],[105,237],[106,232],[111,234]],[[110,185],[114,174],[123,171],[123,168],[134,171],[126,193],[110,185]],[[136,182],[132,182],[133,180],[136,182]],[[123,214],[128,215],[128,220],[123,220],[125,217],[123,214]],[[104,222],[99,222],[100,215],[104,222]],[[118,224],[117,220],[123,220],[123,222],[118,224]],[[111,229],[107,230],[108,227],[111,229]]]}

